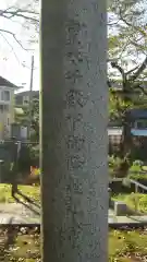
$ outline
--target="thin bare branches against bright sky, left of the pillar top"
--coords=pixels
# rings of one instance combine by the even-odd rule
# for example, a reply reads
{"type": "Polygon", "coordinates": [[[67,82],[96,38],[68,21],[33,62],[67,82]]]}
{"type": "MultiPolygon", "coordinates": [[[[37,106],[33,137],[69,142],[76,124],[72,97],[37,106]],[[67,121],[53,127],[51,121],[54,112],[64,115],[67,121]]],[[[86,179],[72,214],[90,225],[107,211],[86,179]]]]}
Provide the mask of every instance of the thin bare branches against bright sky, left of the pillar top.
{"type": "MultiPolygon", "coordinates": [[[[3,4],[2,4],[3,5],[3,4]]],[[[25,51],[33,51],[34,45],[38,43],[37,34],[39,32],[39,2],[38,1],[16,1],[13,5],[7,3],[0,9],[0,38],[4,39],[5,45],[13,51],[16,60],[20,62],[17,51],[15,51],[14,43],[17,48],[25,51]],[[9,26],[7,25],[9,22],[9,26]],[[22,41],[13,27],[20,24],[23,34],[28,35],[27,41],[22,41]],[[14,25],[14,26],[13,26],[14,25]],[[11,29],[10,29],[11,27],[11,29]],[[37,34],[36,34],[37,33],[37,34]]],[[[23,64],[23,63],[22,63],[23,64]]],[[[23,64],[24,66],[24,64],[23,64]]]]}

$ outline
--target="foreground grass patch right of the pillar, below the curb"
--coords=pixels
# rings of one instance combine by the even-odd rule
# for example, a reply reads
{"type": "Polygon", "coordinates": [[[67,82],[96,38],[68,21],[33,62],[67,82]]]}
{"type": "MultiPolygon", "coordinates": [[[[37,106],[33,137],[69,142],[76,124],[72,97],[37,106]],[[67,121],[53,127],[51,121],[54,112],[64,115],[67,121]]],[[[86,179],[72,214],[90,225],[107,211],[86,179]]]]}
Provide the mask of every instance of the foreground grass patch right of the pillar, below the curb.
{"type": "Polygon", "coordinates": [[[145,229],[110,230],[109,262],[135,262],[146,259],[147,234],[145,229]]]}

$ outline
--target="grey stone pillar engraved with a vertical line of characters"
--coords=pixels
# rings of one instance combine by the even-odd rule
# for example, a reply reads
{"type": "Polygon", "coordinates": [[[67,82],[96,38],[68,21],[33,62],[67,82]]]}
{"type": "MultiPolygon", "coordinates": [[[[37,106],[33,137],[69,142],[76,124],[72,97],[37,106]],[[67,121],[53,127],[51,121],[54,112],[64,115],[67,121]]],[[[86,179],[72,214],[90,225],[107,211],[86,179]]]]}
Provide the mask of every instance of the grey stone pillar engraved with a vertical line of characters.
{"type": "Polygon", "coordinates": [[[106,262],[107,4],[41,2],[42,262],[106,262]]]}

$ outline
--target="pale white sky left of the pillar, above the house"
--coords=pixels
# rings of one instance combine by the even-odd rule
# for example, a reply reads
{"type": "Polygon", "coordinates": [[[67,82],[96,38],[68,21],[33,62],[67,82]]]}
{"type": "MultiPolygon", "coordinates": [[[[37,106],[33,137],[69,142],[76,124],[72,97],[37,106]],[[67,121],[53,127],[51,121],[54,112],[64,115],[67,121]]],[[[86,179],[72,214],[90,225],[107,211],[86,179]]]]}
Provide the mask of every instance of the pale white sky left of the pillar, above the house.
{"type": "MultiPolygon", "coordinates": [[[[0,10],[8,8],[10,4],[16,3],[16,0],[0,0],[0,10]]],[[[25,0],[26,2],[26,0],[25,0]]],[[[11,31],[15,33],[22,45],[29,47],[28,39],[34,29],[26,31],[22,26],[24,21],[15,20],[14,22],[0,17],[0,29],[11,31]]],[[[30,63],[32,56],[35,58],[34,82],[33,90],[39,90],[39,48],[37,45],[32,45],[30,51],[23,50],[20,45],[13,39],[13,36],[0,31],[0,75],[8,79],[19,86],[24,86],[23,90],[29,90],[30,82],[30,63]],[[25,64],[25,67],[23,66],[25,64]]],[[[22,90],[21,90],[22,91],[22,90]]]]}

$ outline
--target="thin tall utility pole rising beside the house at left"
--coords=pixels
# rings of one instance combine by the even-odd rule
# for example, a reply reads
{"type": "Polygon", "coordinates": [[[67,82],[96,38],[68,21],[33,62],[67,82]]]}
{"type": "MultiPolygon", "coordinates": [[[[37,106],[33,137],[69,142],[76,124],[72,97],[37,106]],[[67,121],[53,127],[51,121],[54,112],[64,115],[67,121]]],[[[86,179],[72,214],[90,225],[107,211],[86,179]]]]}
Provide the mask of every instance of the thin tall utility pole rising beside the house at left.
{"type": "Polygon", "coordinates": [[[30,139],[30,127],[32,127],[32,105],[33,105],[33,76],[34,76],[34,56],[32,56],[32,68],[30,68],[30,83],[29,83],[29,103],[28,103],[28,110],[29,110],[29,119],[28,119],[28,139],[30,139]]]}

